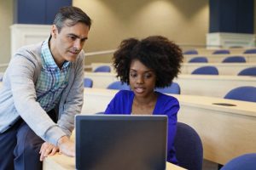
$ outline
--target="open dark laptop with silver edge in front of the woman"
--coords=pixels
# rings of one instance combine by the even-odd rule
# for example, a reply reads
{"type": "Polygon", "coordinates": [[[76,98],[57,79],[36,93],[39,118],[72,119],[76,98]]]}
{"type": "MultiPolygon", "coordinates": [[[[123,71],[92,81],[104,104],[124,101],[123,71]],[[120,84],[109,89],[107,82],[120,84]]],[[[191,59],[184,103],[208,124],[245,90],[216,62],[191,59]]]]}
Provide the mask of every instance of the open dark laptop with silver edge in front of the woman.
{"type": "Polygon", "coordinates": [[[166,169],[167,116],[78,115],[76,169],[166,169]]]}

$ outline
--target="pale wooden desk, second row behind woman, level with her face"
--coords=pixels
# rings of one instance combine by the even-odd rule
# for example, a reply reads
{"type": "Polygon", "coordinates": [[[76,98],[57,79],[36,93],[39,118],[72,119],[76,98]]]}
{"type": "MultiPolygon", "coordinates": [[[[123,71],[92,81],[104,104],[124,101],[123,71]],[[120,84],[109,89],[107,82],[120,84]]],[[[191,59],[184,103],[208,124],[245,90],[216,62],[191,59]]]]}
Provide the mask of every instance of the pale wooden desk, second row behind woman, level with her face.
{"type": "MultiPolygon", "coordinates": [[[[107,88],[111,82],[118,80],[115,73],[85,72],[84,76],[93,80],[93,88],[107,88]]],[[[256,77],[179,75],[174,82],[179,84],[181,94],[224,98],[233,88],[255,86],[256,77]]]]}

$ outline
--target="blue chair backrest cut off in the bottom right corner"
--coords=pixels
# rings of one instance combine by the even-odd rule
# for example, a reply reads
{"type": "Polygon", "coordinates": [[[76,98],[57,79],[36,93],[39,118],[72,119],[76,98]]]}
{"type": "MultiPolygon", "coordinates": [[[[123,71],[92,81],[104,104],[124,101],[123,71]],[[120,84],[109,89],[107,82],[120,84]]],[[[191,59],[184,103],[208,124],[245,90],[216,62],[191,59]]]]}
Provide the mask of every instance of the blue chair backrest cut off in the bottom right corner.
{"type": "Polygon", "coordinates": [[[220,170],[255,170],[256,153],[237,156],[228,161],[220,170]]]}

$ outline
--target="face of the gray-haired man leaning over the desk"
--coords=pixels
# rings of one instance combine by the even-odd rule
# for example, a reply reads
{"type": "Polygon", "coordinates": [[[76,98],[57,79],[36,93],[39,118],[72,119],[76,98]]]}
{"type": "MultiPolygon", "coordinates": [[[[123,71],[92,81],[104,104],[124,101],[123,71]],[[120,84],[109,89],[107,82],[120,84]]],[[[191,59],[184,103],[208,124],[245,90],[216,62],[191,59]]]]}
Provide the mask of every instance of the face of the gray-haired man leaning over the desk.
{"type": "Polygon", "coordinates": [[[89,26],[81,22],[75,26],[64,24],[60,32],[55,25],[52,26],[50,49],[55,62],[75,61],[88,38],[88,32],[89,26]]]}

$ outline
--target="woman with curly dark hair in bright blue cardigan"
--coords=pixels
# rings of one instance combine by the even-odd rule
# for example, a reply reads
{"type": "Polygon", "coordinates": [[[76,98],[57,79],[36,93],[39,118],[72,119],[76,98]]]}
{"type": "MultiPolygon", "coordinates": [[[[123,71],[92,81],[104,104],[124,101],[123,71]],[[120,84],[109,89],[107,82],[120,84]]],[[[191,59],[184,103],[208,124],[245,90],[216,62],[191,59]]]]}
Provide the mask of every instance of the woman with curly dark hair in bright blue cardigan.
{"type": "Polygon", "coordinates": [[[179,104],[176,98],[155,92],[154,88],[171,85],[182,60],[181,49],[166,37],[124,40],[113,54],[113,67],[131,91],[120,90],[105,111],[105,114],[168,116],[167,161],[174,164],[177,164],[173,142],[179,104]]]}

